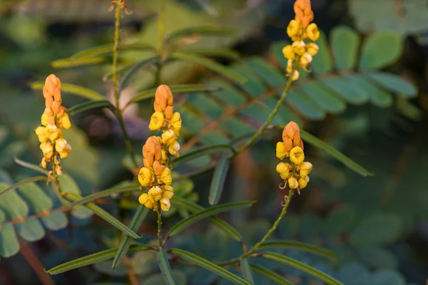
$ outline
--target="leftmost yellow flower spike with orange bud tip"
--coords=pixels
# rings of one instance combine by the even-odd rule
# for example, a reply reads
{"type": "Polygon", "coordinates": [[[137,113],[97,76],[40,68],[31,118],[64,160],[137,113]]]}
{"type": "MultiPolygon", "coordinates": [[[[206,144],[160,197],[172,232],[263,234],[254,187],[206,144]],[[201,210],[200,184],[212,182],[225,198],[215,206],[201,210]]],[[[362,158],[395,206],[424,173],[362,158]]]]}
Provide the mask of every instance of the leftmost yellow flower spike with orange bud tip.
{"type": "Polygon", "coordinates": [[[46,168],[46,162],[54,160],[56,174],[61,174],[58,155],[66,158],[71,152],[71,146],[63,138],[62,128],[71,128],[66,108],[61,103],[61,81],[54,74],[46,78],[43,88],[45,110],[41,115],[41,125],[36,128],[40,149],[43,152],[41,167],[46,168]]]}

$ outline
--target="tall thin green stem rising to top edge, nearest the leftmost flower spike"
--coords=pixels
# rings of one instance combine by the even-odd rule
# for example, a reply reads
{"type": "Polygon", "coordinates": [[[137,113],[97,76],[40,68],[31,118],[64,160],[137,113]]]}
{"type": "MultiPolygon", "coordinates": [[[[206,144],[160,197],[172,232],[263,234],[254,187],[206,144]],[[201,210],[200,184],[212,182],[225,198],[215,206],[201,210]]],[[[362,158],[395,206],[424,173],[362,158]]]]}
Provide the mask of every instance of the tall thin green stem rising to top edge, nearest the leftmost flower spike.
{"type": "Polygon", "coordinates": [[[116,14],[115,14],[116,21],[114,24],[114,43],[113,43],[113,91],[114,91],[114,99],[116,101],[116,117],[119,120],[123,137],[125,138],[126,150],[128,150],[128,154],[131,155],[131,160],[133,162],[134,167],[138,168],[138,163],[136,161],[136,157],[132,150],[131,140],[129,140],[128,132],[126,131],[125,121],[123,120],[121,107],[119,105],[118,49],[119,49],[120,26],[121,26],[121,10],[122,10],[121,1],[116,1],[116,14]]]}

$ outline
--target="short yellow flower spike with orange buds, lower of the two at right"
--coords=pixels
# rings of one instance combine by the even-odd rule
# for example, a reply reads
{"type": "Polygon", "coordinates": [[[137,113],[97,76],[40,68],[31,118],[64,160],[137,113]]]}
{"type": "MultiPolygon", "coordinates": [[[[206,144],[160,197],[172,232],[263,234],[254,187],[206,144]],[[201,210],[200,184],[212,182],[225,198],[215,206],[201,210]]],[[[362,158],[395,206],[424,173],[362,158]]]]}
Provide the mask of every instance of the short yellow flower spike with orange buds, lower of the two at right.
{"type": "Polygon", "coordinates": [[[280,162],[276,170],[284,180],[284,186],[288,183],[290,189],[296,189],[297,192],[307,186],[309,174],[312,170],[312,164],[305,161],[305,152],[303,152],[303,142],[300,139],[299,126],[291,121],[282,131],[282,142],[277,142],[276,156],[283,160],[289,157],[290,162],[280,162]]]}

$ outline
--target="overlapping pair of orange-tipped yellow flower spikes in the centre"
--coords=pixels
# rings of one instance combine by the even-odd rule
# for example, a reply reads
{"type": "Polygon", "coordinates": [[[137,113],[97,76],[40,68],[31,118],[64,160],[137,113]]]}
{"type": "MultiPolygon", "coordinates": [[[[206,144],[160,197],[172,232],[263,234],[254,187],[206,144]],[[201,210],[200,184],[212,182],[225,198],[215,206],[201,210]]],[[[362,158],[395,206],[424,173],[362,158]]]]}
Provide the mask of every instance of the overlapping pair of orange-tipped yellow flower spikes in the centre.
{"type": "Polygon", "coordinates": [[[178,157],[180,145],[177,139],[181,129],[180,113],[173,113],[173,93],[168,86],[161,85],[156,90],[154,109],[148,128],[162,130],[163,133],[160,137],[151,136],[143,145],[144,167],[138,172],[138,181],[151,189],[143,193],[138,201],[155,211],[158,211],[159,204],[163,211],[168,211],[174,195],[168,154],[178,157]]]}

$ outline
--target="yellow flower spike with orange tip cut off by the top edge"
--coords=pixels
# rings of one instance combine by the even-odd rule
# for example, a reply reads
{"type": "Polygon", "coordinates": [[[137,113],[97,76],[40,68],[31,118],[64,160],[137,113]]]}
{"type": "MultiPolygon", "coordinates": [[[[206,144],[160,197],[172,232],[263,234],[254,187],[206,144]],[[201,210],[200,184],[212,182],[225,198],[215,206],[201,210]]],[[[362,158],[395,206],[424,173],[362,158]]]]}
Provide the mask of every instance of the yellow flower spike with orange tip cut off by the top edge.
{"type": "Polygon", "coordinates": [[[282,53],[287,61],[287,74],[292,76],[293,81],[299,78],[297,68],[307,70],[307,66],[312,62],[312,57],[318,53],[316,43],[305,43],[303,41],[309,38],[311,41],[317,41],[320,37],[317,24],[311,23],[314,19],[314,13],[310,6],[310,0],[296,0],[294,4],[295,19],[290,21],[287,26],[287,34],[292,39],[292,44],[282,48],[282,53]]]}

